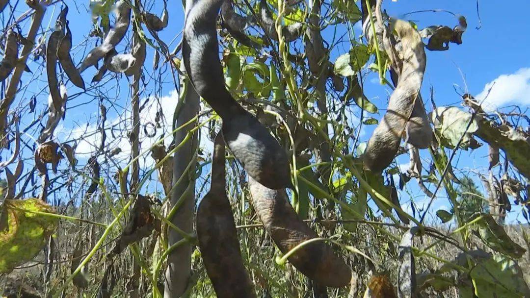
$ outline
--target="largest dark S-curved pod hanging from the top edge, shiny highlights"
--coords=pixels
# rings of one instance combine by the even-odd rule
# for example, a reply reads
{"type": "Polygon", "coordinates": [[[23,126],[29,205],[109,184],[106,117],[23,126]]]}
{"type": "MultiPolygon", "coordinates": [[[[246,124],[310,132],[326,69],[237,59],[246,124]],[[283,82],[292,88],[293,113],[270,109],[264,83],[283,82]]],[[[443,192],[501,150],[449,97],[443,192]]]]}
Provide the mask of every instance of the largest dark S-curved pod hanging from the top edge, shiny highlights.
{"type": "Polygon", "coordinates": [[[182,47],[184,66],[197,93],[223,119],[223,137],[247,173],[272,189],[290,187],[285,150],[226,90],[216,31],[222,1],[200,0],[189,11],[182,47]]]}

